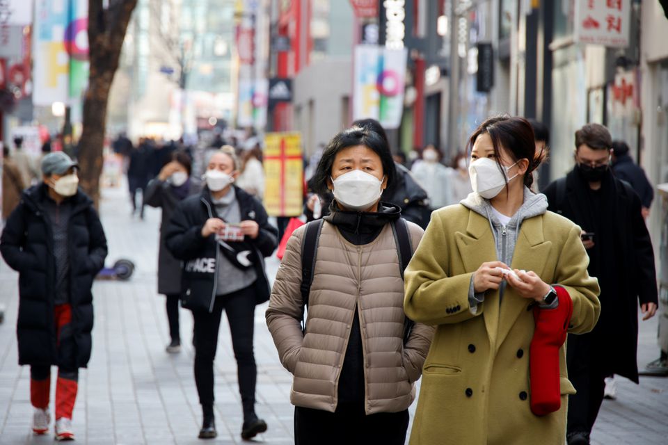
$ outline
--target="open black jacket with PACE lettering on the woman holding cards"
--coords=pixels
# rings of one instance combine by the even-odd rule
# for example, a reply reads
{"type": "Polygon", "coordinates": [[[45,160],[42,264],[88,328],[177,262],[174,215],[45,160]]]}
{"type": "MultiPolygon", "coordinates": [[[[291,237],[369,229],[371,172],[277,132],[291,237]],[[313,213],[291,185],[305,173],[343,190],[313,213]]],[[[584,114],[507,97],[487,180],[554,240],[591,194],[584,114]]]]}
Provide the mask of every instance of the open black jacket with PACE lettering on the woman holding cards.
{"type": "MultiPolygon", "coordinates": [[[[269,300],[270,287],[267,274],[264,273],[264,257],[269,257],[278,245],[278,230],[269,224],[267,211],[262,204],[234,186],[237,194],[241,220],[255,220],[260,225],[257,238],[246,236],[246,243],[251,246],[250,260],[255,266],[255,302],[260,304],[269,300]]],[[[182,305],[188,309],[207,309],[211,312],[216,292],[218,259],[221,250],[216,237],[212,234],[202,238],[202,227],[209,218],[216,218],[208,188],[200,195],[186,197],[181,201],[166,228],[167,248],[175,258],[184,262],[182,267],[181,298],[182,305]]]]}

